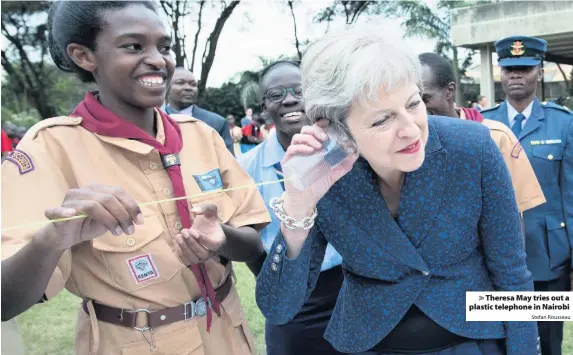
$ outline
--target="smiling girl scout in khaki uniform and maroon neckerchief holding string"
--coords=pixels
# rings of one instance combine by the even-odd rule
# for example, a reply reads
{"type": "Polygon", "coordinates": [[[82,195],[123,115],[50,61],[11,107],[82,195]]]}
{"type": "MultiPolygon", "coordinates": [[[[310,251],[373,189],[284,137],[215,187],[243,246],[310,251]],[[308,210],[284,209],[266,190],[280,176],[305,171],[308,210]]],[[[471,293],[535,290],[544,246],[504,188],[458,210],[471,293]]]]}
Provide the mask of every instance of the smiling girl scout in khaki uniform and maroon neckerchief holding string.
{"type": "Polygon", "coordinates": [[[255,188],[220,191],[252,180],[217,132],[154,109],[169,31],[144,1],[58,2],[49,23],[56,65],[98,92],[2,164],[2,319],[66,288],[77,354],[252,353],[229,260],[259,257],[268,213],[255,188]]]}

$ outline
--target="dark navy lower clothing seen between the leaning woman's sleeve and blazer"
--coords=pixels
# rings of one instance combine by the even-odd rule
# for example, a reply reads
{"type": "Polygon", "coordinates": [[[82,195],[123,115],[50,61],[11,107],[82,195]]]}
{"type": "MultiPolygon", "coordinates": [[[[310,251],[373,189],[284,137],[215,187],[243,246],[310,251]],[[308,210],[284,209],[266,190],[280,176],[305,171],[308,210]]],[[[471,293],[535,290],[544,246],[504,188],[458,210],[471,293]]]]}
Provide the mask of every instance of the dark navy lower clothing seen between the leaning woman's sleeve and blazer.
{"type": "Polygon", "coordinates": [[[295,318],[284,325],[265,325],[268,355],[341,355],[324,332],[336,305],[344,276],[338,266],[320,273],[316,287],[295,318]]]}

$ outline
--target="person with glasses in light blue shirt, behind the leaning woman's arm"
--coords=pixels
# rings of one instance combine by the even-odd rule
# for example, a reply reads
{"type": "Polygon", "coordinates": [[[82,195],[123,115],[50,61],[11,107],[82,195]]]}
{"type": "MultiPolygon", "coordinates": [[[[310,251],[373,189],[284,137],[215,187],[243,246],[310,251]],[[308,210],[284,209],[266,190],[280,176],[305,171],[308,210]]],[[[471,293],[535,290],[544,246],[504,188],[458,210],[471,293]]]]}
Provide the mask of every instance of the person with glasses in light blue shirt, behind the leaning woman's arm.
{"type": "MultiPolygon", "coordinates": [[[[261,109],[275,124],[266,141],[239,158],[239,164],[255,182],[282,179],[281,160],[292,137],[310,124],[302,100],[301,72],[298,63],[279,61],[263,70],[260,79],[261,109]]],[[[269,201],[284,192],[281,183],[259,186],[267,208],[269,201]]],[[[262,232],[267,253],[280,228],[280,221],[271,213],[271,224],[262,232]]],[[[251,270],[258,274],[266,254],[251,270]]],[[[323,338],[324,331],[336,304],[343,281],[342,257],[328,245],[316,288],[295,318],[281,326],[266,324],[266,343],[269,355],[339,354],[323,338]]]]}

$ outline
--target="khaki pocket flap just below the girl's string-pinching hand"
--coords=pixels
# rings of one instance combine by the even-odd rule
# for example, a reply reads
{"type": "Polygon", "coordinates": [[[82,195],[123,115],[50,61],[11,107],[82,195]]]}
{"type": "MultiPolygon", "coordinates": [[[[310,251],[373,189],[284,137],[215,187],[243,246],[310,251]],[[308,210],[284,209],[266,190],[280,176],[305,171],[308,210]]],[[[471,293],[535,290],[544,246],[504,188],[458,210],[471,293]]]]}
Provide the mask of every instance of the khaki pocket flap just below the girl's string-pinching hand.
{"type": "Polygon", "coordinates": [[[133,235],[122,234],[119,237],[107,232],[92,240],[92,247],[101,251],[116,253],[134,252],[157,239],[163,232],[163,225],[156,215],[144,217],[143,225],[135,225],[133,235]]]}

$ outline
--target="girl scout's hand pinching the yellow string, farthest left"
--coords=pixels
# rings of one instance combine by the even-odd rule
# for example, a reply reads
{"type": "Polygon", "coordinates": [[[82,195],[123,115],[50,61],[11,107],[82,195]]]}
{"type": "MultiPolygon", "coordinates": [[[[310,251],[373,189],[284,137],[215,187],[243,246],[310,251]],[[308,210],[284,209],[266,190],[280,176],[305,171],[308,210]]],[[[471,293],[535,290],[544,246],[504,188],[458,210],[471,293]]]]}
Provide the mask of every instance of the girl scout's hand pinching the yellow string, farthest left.
{"type": "Polygon", "coordinates": [[[85,218],[49,225],[50,242],[58,250],[92,240],[107,231],[114,235],[133,234],[135,224],[143,224],[137,202],[124,189],[108,185],[88,185],[69,190],[61,207],[47,209],[48,219],[85,215],[85,218]]]}

